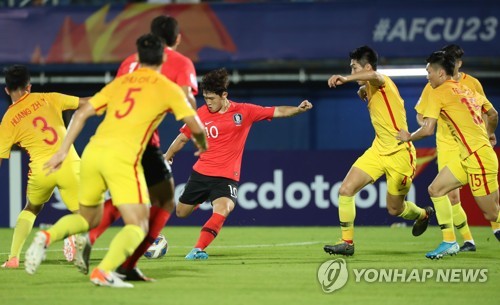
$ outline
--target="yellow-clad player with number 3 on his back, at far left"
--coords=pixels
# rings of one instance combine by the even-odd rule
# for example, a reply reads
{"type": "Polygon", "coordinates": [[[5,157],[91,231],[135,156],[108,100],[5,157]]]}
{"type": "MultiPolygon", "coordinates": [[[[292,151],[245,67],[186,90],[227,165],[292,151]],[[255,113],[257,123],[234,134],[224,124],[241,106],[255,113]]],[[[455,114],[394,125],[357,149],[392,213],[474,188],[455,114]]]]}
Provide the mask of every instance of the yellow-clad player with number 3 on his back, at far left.
{"type": "Polygon", "coordinates": [[[0,164],[2,158],[10,157],[14,144],[26,150],[30,156],[26,206],[17,217],[9,258],[2,265],[3,268],[17,268],[19,255],[36,216],[56,186],[68,210],[78,211],[80,157],[73,146],[60,172],[45,177],[42,167],[59,149],[66,135],[62,111],[76,109],[86,99],[60,93],[31,92],[30,74],[22,65],[7,67],[4,73],[5,92],[10,96],[12,105],[7,109],[0,126],[0,164]]]}

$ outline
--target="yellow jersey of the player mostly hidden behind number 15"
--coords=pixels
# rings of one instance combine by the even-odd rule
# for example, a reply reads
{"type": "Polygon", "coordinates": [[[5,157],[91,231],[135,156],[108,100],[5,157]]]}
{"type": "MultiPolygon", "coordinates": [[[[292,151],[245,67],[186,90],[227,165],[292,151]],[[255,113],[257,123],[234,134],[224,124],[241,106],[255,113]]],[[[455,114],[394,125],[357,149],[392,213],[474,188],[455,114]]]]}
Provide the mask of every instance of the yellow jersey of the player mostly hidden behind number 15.
{"type": "MultiPolygon", "coordinates": [[[[466,87],[469,87],[470,89],[473,89],[477,91],[479,94],[484,95],[484,90],[483,86],[477,80],[476,78],[465,74],[465,73],[460,73],[460,79],[458,80],[461,84],[465,85],[466,87]]],[[[418,100],[417,105],[415,106],[415,110],[417,113],[423,114],[425,107],[429,104],[429,92],[432,91],[432,87],[429,83],[425,85],[424,90],[422,91],[422,94],[420,96],[420,99],[418,100]]],[[[488,111],[491,109],[492,105],[489,101],[486,102],[484,105],[484,109],[488,111]]],[[[438,150],[453,150],[453,149],[458,149],[458,143],[455,141],[453,135],[451,134],[451,130],[448,128],[448,125],[442,121],[443,119],[440,117],[438,118],[437,122],[437,130],[436,130],[436,147],[438,150]]]]}

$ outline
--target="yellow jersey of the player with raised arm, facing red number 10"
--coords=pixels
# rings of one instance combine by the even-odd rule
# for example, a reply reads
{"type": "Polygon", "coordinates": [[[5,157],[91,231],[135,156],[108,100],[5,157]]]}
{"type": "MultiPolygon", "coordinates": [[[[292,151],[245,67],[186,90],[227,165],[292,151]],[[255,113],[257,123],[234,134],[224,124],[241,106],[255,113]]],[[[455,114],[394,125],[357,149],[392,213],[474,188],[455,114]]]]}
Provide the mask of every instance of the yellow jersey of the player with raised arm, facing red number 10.
{"type": "Polygon", "coordinates": [[[384,75],[385,84],[380,87],[367,83],[368,111],[375,140],[372,146],[380,155],[389,155],[405,148],[398,145],[396,136],[400,129],[408,129],[404,101],[394,82],[384,75]]]}

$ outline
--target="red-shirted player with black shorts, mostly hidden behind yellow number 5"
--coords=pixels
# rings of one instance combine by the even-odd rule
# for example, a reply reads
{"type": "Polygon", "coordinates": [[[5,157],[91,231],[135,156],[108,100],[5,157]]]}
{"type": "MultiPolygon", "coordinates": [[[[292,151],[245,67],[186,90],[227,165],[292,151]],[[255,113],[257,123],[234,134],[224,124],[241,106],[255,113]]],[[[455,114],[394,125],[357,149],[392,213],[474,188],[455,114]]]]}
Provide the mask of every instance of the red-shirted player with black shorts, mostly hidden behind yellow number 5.
{"type": "MultiPolygon", "coordinates": [[[[160,73],[179,85],[193,109],[196,109],[196,99],[194,95],[198,93],[198,82],[196,80],[196,71],[193,62],[175,50],[181,42],[177,20],[171,16],[158,16],[151,22],[151,33],[162,38],[166,45],[164,49],[166,62],[161,66],[160,73]]],[[[122,62],[116,77],[131,73],[137,68],[138,56],[137,53],[135,53],[122,62]]],[[[166,164],[163,159],[163,152],[160,150],[158,130],[155,130],[150,142],[146,146],[142,158],[142,165],[144,167],[144,175],[146,177],[146,183],[152,203],[150,226],[149,233],[143,243],[137,248],[135,253],[117,269],[117,272],[124,275],[125,279],[129,281],[151,280],[145,277],[136,267],[137,261],[154,242],[175,208],[174,180],[172,178],[170,166],[166,164]]],[[[117,208],[113,206],[111,199],[108,200],[104,205],[103,219],[100,225],[92,229],[88,237],[82,236],[84,240],[79,240],[79,243],[87,248],[86,252],[89,255],[90,245],[93,245],[95,240],[119,217],[120,214],[117,208]]],[[[86,255],[86,259],[89,259],[89,255],[86,255]]]]}

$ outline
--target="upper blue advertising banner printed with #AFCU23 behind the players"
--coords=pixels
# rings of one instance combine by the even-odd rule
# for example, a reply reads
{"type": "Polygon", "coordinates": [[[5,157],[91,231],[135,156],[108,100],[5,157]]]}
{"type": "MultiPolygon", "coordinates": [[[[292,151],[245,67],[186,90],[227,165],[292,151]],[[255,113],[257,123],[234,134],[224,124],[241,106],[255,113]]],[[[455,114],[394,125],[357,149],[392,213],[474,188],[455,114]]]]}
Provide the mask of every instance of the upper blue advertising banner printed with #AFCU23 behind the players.
{"type": "Polygon", "coordinates": [[[195,62],[344,59],[369,44],[383,58],[425,58],[457,43],[498,56],[500,2],[334,1],[132,4],[2,9],[0,63],[117,63],[159,14],[179,20],[195,62]]]}

